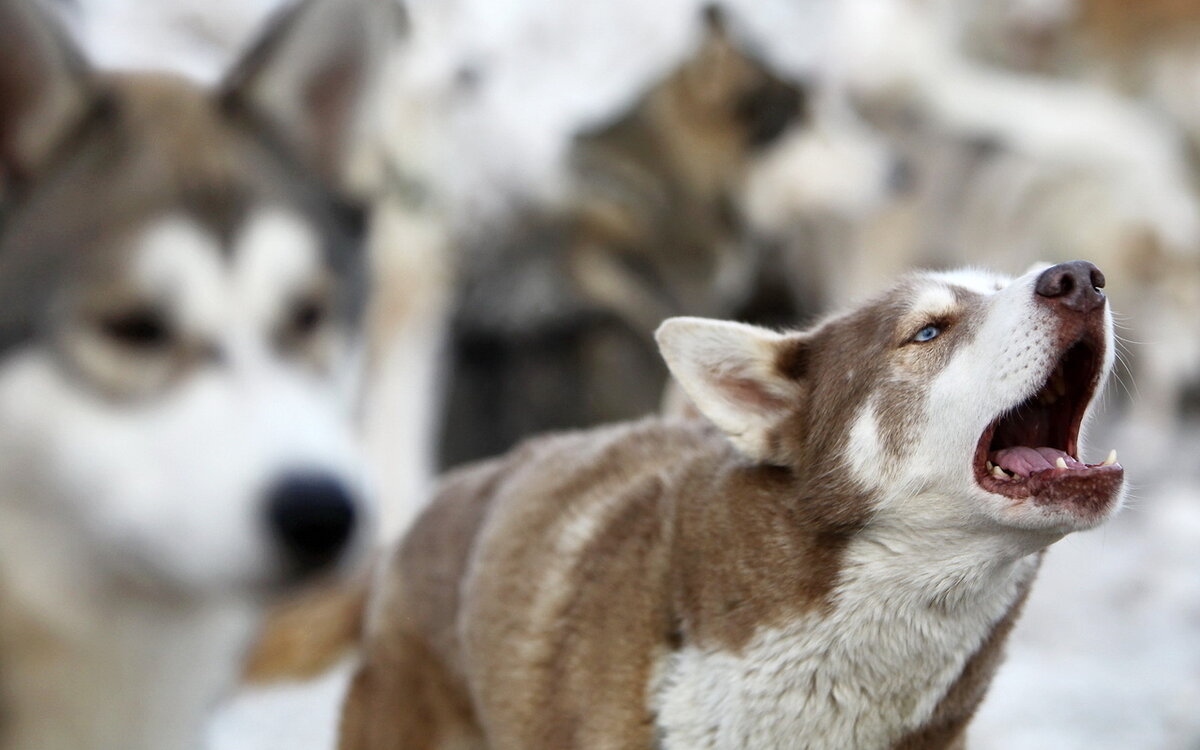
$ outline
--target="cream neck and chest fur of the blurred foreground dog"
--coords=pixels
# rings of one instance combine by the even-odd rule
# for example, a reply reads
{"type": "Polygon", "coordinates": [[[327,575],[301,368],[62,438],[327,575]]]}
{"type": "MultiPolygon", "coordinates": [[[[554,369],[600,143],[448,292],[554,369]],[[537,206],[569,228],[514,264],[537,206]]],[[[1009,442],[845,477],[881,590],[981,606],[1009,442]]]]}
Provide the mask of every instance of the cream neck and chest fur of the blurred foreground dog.
{"type": "Polygon", "coordinates": [[[196,750],[254,607],[113,595],[55,528],[0,516],[0,749],[196,750]]]}

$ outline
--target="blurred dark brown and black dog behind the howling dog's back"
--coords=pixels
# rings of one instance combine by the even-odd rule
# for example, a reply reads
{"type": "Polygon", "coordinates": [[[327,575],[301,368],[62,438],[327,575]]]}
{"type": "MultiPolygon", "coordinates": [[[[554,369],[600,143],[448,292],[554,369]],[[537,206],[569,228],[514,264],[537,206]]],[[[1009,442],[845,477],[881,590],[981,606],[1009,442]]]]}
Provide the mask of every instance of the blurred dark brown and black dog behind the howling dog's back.
{"type": "Polygon", "coordinates": [[[652,410],[666,370],[649,332],[672,314],[754,304],[762,264],[742,181],[804,114],[803,85],[706,8],[686,60],[576,134],[563,205],[466,236],[442,466],[652,410]]]}

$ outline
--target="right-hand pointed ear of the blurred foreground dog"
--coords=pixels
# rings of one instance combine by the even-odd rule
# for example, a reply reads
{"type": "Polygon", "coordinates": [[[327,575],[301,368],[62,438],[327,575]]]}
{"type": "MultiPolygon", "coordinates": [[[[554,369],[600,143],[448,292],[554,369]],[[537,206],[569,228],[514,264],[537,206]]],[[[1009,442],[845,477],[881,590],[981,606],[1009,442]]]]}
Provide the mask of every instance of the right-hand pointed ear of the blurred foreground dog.
{"type": "Polygon", "coordinates": [[[407,25],[397,0],[300,0],[272,19],[220,94],[344,187],[355,128],[407,25]]]}

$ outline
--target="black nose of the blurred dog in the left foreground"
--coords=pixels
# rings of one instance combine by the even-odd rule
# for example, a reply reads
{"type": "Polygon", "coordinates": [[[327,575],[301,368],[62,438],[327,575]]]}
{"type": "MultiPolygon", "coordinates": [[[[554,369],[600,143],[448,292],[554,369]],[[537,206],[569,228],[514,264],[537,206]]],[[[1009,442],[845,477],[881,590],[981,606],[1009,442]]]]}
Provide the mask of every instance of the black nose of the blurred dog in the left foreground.
{"type": "Polygon", "coordinates": [[[355,496],[336,478],[294,474],[266,498],[268,523],[296,574],[329,566],[354,534],[355,496]]]}

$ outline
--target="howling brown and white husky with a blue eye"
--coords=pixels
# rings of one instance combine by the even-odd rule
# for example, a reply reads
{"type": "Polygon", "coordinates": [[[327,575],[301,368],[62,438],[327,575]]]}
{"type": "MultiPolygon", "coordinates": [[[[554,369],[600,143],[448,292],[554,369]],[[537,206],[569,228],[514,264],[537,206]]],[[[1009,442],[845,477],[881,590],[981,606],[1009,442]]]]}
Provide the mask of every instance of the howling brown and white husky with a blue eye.
{"type": "Polygon", "coordinates": [[[1104,280],[914,274],[791,334],[658,331],[704,420],[449,475],[368,612],[344,750],[961,748],[1081,461],[1104,280]]]}

